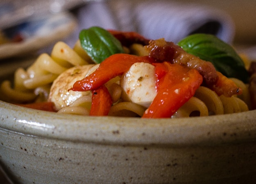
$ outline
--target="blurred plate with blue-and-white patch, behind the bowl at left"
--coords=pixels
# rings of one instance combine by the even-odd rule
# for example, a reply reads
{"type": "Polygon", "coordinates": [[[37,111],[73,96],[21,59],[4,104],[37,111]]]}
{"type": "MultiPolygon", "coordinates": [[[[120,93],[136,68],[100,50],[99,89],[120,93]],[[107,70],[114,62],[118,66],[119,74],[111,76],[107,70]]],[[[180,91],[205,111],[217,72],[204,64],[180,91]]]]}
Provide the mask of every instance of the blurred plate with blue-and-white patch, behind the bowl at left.
{"type": "Polygon", "coordinates": [[[30,18],[18,29],[24,40],[0,45],[0,59],[24,55],[57,42],[72,33],[77,21],[70,13],[56,13],[30,18]]]}

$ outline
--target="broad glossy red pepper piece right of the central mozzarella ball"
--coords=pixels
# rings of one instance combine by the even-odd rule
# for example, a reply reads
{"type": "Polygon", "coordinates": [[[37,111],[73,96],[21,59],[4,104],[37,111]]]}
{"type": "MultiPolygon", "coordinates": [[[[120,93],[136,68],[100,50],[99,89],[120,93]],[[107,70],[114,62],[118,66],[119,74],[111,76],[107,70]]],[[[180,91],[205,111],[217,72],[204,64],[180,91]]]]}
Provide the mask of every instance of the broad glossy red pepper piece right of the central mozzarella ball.
{"type": "Polygon", "coordinates": [[[195,69],[179,64],[155,63],[157,94],[144,118],[171,117],[202,84],[203,77],[195,69]]]}

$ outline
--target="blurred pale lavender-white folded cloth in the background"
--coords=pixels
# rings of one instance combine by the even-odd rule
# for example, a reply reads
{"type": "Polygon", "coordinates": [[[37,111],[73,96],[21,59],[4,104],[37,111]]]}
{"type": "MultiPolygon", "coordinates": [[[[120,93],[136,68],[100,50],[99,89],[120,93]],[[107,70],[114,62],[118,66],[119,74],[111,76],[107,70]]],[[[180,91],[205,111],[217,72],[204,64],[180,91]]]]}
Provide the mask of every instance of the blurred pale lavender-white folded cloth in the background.
{"type": "Polygon", "coordinates": [[[79,27],[136,31],[146,38],[177,43],[191,33],[211,33],[227,43],[233,41],[234,24],[229,15],[200,4],[174,1],[109,0],[91,2],[78,12],[79,27]]]}

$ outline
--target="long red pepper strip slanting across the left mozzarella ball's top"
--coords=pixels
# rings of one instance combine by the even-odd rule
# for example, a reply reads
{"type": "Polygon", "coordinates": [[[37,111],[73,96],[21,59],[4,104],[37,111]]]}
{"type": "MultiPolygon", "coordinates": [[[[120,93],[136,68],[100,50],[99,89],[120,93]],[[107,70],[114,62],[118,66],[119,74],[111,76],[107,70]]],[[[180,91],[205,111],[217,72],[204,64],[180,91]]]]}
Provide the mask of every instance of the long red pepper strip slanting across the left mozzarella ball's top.
{"type": "Polygon", "coordinates": [[[102,61],[95,72],[80,81],[76,81],[73,87],[69,90],[96,90],[110,79],[113,79],[114,77],[128,71],[131,65],[138,62],[152,63],[153,60],[148,56],[113,54],[102,61]]]}

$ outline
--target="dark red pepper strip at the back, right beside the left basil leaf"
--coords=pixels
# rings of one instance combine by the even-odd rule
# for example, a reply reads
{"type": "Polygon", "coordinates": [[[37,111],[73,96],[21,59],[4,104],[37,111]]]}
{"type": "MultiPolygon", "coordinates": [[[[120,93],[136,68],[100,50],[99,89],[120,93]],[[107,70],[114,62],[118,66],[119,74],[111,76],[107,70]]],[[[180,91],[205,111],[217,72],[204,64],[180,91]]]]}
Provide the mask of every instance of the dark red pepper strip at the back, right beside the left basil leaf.
{"type": "Polygon", "coordinates": [[[149,39],[144,38],[142,35],[136,32],[125,32],[125,31],[116,31],[108,30],[113,36],[115,36],[122,45],[129,47],[133,43],[139,43],[141,45],[148,45],[149,39]]]}

